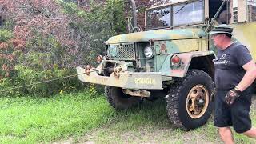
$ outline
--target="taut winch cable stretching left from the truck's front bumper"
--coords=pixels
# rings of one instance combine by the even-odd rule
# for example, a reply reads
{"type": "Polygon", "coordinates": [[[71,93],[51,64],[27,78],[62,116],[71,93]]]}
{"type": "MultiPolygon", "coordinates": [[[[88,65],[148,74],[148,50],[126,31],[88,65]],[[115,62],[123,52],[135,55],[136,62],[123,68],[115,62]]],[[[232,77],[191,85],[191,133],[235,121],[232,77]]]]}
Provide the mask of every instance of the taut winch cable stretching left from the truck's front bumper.
{"type": "MultiPolygon", "coordinates": [[[[99,70],[104,70],[104,69],[106,69],[106,68],[99,69],[99,70]]],[[[95,71],[99,71],[99,70],[91,70],[90,73],[91,73],[91,72],[95,72],[95,71]]],[[[89,73],[89,74],[90,74],[90,73],[89,73]]],[[[82,73],[82,74],[86,74],[86,72],[85,72],[85,73],[82,73]]],[[[42,83],[46,83],[46,82],[53,82],[53,81],[57,81],[57,80],[59,80],[59,79],[72,78],[72,77],[76,77],[76,76],[78,76],[78,75],[81,75],[81,74],[72,74],[72,75],[69,75],[69,76],[66,76],[66,77],[54,78],[54,79],[50,79],[50,80],[46,80],[46,81],[42,81],[42,82],[34,82],[34,83],[30,84],[30,85],[15,86],[15,87],[8,88],[8,89],[6,89],[6,90],[0,90],[0,92],[6,92],[6,91],[10,91],[10,90],[18,90],[18,89],[21,89],[21,88],[23,88],[23,87],[34,86],[34,85],[38,85],[38,84],[42,84],[42,83]]]]}

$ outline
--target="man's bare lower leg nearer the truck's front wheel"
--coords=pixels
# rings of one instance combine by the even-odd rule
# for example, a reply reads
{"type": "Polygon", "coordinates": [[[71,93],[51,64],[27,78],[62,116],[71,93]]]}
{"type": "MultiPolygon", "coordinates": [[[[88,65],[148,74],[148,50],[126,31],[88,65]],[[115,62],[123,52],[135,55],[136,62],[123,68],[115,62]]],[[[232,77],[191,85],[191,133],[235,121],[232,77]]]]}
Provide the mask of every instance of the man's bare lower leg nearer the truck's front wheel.
{"type": "Polygon", "coordinates": [[[233,144],[234,138],[230,127],[219,127],[218,133],[222,138],[222,141],[226,144],[233,144]]]}

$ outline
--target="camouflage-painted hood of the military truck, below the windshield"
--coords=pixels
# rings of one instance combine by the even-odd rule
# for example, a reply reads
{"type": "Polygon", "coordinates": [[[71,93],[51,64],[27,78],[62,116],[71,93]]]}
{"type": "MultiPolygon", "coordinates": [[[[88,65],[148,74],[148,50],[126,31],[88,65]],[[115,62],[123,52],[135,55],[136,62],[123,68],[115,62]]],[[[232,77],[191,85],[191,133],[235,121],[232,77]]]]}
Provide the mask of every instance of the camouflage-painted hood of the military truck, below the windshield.
{"type": "Polygon", "coordinates": [[[121,34],[111,37],[106,41],[106,45],[125,42],[149,42],[150,40],[168,40],[168,39],[184,39],[202,37],[204,31],[202,29],[174,29],[174,30],[150,30],[138,33],[121,34]]]}

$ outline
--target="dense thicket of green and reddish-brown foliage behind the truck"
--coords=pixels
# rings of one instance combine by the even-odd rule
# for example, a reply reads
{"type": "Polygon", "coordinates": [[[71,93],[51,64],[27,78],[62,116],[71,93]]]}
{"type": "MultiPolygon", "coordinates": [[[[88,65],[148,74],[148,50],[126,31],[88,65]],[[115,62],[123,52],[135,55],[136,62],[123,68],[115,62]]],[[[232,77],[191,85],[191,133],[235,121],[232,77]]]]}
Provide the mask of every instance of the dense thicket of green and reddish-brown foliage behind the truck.
{"type": "MultiPolygon", "coordinates": [[[[76,66],[94,64],[95,55],[104,54],[108,38],[127,32],[127,2],[1,0],[0,12],[5,21],[0,27],[0,80],[9,78],[9,86],[24,85],[74,74],[76,66]]],[[[144,26],[144,10],[152,5],[150,2],[136,1],[140,26],[144,26]]],[[[78,86],[76,83],[64,80],[23,91],[56,93],[78,86]]]]}

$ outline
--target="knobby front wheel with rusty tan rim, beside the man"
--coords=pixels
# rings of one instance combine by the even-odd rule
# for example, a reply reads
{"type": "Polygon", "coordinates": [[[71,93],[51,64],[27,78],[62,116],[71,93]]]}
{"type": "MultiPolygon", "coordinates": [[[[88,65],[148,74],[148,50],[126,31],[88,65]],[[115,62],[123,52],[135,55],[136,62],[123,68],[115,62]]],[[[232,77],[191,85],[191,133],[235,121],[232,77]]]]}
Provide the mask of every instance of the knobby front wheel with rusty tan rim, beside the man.
{"type": "Polygon", "coordinates": [[[204,125],[213,110],[213,91],[212,78],[202,70],[189,70],[185,78],[177,78],[167,98],[170,122],[184,130],[204,125]]]}

